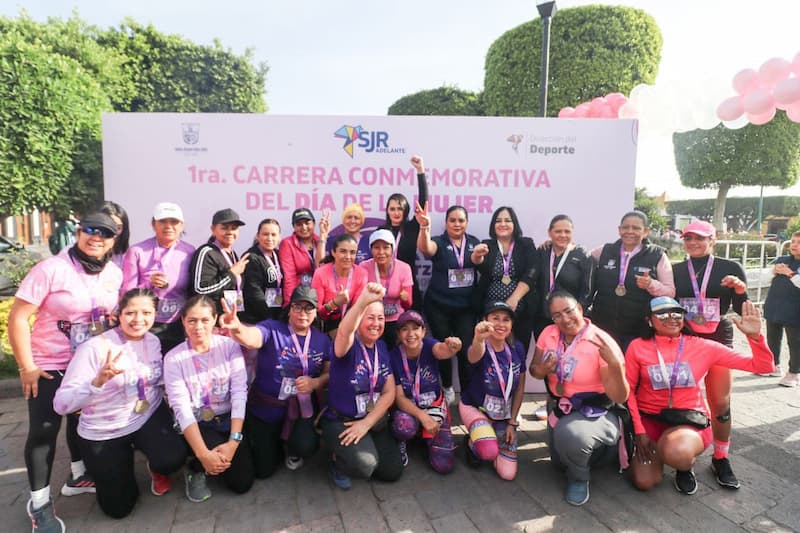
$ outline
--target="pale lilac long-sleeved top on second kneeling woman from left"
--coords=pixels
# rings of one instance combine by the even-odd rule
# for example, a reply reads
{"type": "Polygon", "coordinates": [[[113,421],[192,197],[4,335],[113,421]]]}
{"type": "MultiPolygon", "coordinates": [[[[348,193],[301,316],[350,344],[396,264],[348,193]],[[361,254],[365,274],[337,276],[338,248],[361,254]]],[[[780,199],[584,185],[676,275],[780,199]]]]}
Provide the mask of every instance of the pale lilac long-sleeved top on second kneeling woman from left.
{"type": "Polygon", "coordinates": [[[175,418],[186,429],[210,407],[218,415],[244,418],[247,372],[242,349],[228,337],[213,335],[211,349],[195,352],[185,341],[164,357],[164,382],[175,418]]]}

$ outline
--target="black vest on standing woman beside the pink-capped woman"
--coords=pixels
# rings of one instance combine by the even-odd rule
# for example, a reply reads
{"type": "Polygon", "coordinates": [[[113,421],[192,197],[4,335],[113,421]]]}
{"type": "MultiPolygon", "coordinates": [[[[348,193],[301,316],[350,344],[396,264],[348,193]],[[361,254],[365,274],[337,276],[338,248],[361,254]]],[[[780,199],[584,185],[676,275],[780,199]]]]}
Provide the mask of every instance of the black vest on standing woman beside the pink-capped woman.
{"type": "Polygon", "coordinates": [[[657,266],[664,256],[664,249],[654,244],[644,244],[628,264],[625,296],[617,296],[614,290],[619,285],[621,246],[622,242],[618,240],[603,246],[600,253],[595,277],[597,293],[592,305],[592,321],[614,336],[640,337],[648,331],[646,317],[653,297],[636,286],[635,276],[649,271],[651,278],[658,279],[657,266]]]}

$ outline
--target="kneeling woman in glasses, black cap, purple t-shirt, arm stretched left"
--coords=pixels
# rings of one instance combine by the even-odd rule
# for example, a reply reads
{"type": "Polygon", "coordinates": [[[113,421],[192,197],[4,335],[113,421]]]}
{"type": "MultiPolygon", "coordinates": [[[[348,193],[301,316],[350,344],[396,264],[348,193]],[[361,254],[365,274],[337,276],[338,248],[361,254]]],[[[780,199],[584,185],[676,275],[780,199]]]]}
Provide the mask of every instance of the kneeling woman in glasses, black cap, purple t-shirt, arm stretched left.
{"type": "Polygon", "coordinates": [[[292,293],[287,321],[245,326],[232,310],[222,316],[222,327],[234,340],[258,350],[245,429],[259,479],[275,473],[284,443],[289,470],[300,468],[303,459],[319,449],[314,418],[318,398],[328,385],[333,347],[330,338],[312,326],[316,316],[317,293],[302,286],[292,293]]]}

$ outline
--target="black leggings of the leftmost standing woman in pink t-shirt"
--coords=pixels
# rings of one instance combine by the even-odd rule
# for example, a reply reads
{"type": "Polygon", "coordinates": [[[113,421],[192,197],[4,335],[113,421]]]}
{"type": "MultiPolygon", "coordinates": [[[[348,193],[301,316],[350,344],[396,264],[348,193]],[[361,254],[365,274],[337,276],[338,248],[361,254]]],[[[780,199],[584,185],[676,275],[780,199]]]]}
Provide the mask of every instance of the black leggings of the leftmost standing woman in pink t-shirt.
{"type": "MultiPolygon", "coordinates": [[[[25,441],[25,467],[28,469],[28,483],[31,490],[43,489],[50,484],[53,471],[53,457],[56,454],[56,441],[61,430],[62,416],[53,410],[53,398],[63,371],[49,370],[53,379],[39,378],[39,394],[28,400],[28,438],[25,441]]],[[[70,460],[80,461],[78,447],[78,415],[67,415],[67,447],[70,460]]]]}

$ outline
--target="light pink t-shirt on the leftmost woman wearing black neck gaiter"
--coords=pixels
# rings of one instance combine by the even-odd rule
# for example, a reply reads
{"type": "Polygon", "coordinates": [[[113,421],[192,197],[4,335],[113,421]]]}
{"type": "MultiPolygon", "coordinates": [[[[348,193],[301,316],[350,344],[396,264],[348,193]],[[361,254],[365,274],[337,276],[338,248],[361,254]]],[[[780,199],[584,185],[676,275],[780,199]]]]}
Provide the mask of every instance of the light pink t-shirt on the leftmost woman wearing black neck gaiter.
{"type": "Polygon", "coordinates": [[[73,344],[89,339],[92,308],[105,319],[117,306],[122,271],[109,261],[97,275],[83,267],[64,249],[31,269],[17,289],[16,297],[38,307],[31,333],[33,362],[42,370],[64,370],[72,359],[73,344]]]}

